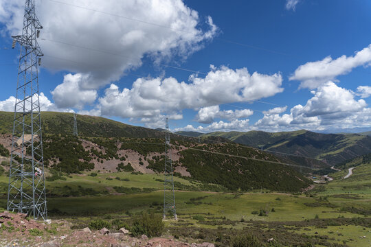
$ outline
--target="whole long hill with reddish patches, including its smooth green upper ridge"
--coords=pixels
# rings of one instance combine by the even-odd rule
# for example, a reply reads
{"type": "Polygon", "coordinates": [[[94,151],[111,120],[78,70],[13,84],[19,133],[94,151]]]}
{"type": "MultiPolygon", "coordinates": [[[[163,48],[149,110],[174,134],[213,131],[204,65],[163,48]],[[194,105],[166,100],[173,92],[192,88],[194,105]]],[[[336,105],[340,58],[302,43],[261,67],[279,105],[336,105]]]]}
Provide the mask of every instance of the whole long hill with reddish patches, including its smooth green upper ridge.
{"type": "MultiPolygon", "coordinates": [[[[91,172],[161,173],[164,169],[164,132],[129,126],[103,117],[78,115],[79,137],[72,136],[71,113],[42,113],[44,160],[50,179],[61,174],[91,172]]],[[[0,141],[10,148],[12,113],[0,113],[0,141]]],[[[223,137],[172,134],[172,158],[177,176],[222,186],[230,191],[265,188],[300,191],[311,181],[290,166],[286,158],[248,148],[223,137]],[[234,156],[231,156],[234,155],[234,156]],[[272,161],[267,163],[265,161],[272,161]]]]}

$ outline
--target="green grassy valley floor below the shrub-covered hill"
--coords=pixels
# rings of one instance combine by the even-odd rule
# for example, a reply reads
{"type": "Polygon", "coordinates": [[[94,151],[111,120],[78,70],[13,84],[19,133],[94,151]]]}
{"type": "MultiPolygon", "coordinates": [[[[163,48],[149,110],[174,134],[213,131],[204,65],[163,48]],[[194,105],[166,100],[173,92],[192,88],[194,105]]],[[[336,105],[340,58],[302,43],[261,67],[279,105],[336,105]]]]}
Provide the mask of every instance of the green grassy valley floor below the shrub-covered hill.
{"type": "MultiPolygon", "coordinates": [[[[296,194],[201,191],[204,185],[176,178],[180,184],[175,195],[179,220],[166,220],[166,236],[188,244],[213,242],[216,246],[228,246],[231,236],[251,232],[262,242],[273,238],[281,246],[371,246],[371,169],[361,165],[344,179],[347,173],[344,170],[331,174],[334,180],[328,184],[296,194]],[[190,186],[200,191],[181,189],[190,186]]],[[[0,176],[2,192],[6,183],[7,178],[0,176]]],[[[91,220],[130,222],[132,215],[142,211],[162,213],[162,182],[156,174],[87,173],[48,182],[47,187],[55,195],[71,191],[77,195],[48,199],[52,222],[63,220],[69,228],[76,229],[63,233],[67,237],[89,226],[91,220]],[[126,189],[124,193],[107,192],[117,187],[126,189]],[[131,187],[142,190],[128,190],[131,187]],[[78,196],[78,191],[87,188],[96,194],[78,196]]],[[[0,199],[0,208],[5,207],[5,202],[5,198],[0,199]]],[[[43,236],[46,241],[47,236],[56,235],[43,236]]]]}

